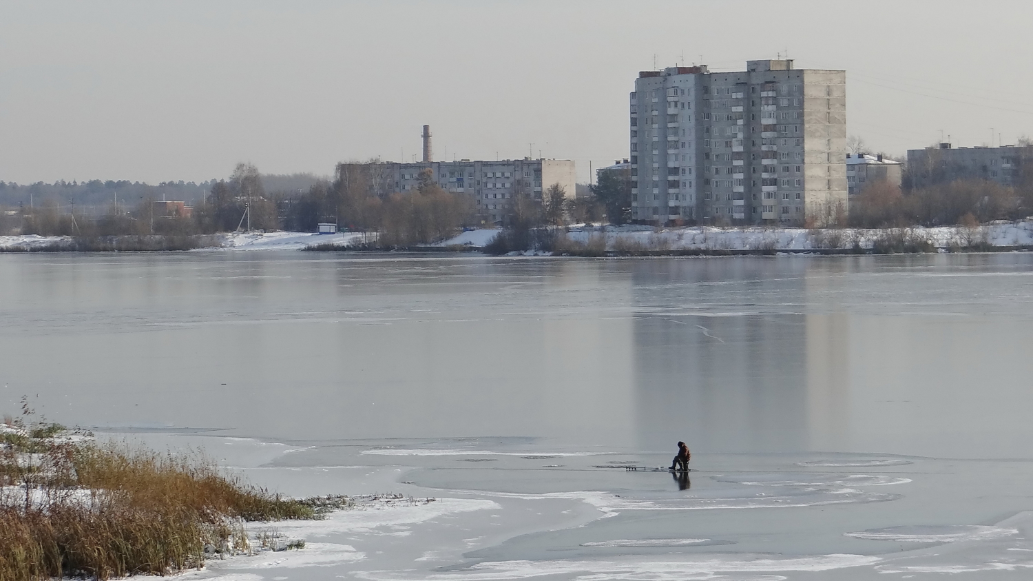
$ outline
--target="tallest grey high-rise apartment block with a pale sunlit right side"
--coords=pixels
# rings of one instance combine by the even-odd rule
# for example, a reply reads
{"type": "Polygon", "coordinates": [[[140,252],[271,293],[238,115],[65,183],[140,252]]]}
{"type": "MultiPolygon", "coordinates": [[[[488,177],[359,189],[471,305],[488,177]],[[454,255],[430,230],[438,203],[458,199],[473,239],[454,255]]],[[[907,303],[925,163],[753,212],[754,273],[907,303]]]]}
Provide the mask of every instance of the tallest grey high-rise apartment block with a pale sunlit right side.
{"type": "Polygon", "coordinates": [[[638,73],[632,219],[800,224],[846,209],[846,72],[746,68],[638,73]]]}

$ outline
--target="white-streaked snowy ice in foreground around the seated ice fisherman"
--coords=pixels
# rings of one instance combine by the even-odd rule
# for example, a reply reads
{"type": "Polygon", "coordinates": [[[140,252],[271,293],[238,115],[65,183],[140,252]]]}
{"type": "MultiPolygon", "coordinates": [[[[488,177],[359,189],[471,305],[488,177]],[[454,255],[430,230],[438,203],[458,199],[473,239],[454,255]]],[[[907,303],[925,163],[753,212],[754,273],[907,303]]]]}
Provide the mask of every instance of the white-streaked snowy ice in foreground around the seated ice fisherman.
{"type": "MultiPolygon", "coordinates": [[[[160,437],[161,444],[192,441],[160,437]]],[[[582,456],[527,444],[514,451],[515,445],[492,448],[477,438],[466,438],[466,450],[404,439],[386,450],[365,441],[324,448],[207,439],[230,444],[226,461],[262,485],[311,490],[320,473],[326,479],[321,493],[355,493],[377,483],[372,486],[390,494],[359,498],[358,509],[322,521],[249,523],[252,534],[274,530],[304,539],[305,548],[211,560],[180,576],[190,581],[846,581],[887,574],[966,580],[1033,569],[1033,514],[997,523],[937,521],[943,503],[972,507],[985,494],[1001,497],[965,484],[993,478],[998,468],[985,461],[959,467],[957,460],[901,464],[844,453],[699,455],[685,475],[689,486],[680,490],[679,475],[622,468],[666,459],[658,454],[627,460],[622,453],[582,456]],[[333,451],[339,465],[320,467],[330,458],[324,451],[333,451]],[[417,454],[379,453],[386,451],[417,454]],[[497,460],[464,463],[465,453],[497,460]],[[541,458],[559,455],[564,465],[558,470],[540,465],[541,458]],[[260,464],[241,465],[253,462],[260,464]],[[864,471],[853,471],[858,467],[864,471]],[[957,489],[938,487],[948,472],[959,480],[957,489]],[[383,480],[388,475],[394,483],[383,480]],[[549,490],[563,486],[578,488],[549,490]]]]}

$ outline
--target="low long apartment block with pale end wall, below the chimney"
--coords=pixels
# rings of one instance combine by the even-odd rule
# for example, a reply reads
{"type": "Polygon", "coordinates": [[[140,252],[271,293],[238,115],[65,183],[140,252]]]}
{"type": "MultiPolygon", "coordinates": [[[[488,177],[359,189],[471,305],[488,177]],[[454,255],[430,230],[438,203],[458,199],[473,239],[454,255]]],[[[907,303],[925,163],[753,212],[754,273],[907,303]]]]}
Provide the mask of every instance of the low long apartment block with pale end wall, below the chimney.
{"type": "Polygon", "coordinates": [[[538,202],[542,191],[559,184],[569,200],[576,188],[574,162],[569,159],[503,159],[501,161],[422,161],[385,163],[388,183],[396,191],[414,189],[419,174],[430,169],[442,188],[473,196],[477,215],[486,223],[501,224],[512,208],[513,196],[523,193],[538,202]]]}

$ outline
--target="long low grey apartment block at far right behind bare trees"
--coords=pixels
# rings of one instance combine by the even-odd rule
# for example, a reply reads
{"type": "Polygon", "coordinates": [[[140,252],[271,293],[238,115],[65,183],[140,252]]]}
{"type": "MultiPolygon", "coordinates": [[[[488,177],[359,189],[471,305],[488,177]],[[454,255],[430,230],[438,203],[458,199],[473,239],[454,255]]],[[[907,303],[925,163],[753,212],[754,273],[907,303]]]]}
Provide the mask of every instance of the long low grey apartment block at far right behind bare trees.
{"type": "Polygon", "coordinates": [[[1033,162],[1033,148],[953,147],[949,143],[907,152],[911,187],[952,182],[960,179],[983,179],[1003,186],[1021,183],[1024,161],[1033,162]]]}

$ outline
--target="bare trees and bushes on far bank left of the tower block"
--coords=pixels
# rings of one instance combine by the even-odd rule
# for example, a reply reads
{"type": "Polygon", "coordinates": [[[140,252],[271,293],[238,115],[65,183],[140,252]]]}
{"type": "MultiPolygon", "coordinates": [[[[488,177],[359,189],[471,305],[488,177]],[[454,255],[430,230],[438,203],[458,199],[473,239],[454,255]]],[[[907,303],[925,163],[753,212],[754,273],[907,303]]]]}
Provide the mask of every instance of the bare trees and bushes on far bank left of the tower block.
{"type": "MultiPolygon", "coordinates": [[[[254,165],[240,163],[228,180],[205,182],[208,190],[200,200],[175,212],[156,204],[156,191],[146,189],[135,200],[124,194],[120,204],[113,201],[92,215],[53,198],[32,207],[0,207],[0,235],[191,236],[247,227],[314,232],[320,222],[332,222],[341,230],[376,232],[379,245],[398,247],[444,240],[463,227],[495,225],[478,214],[472,194],[442,188],[430,170],[407,191],[397,191],[388,165],[376,160],[339,163],[332,180],[312,180],[305,189],[270,192],[265,183],[268,177],[254,165]]],[[[125,186],[113,182],[108,189],[125,186]]],[[[527,228],[601,218],[598,205],[571,200],[559,186],[537,200],[515,192],[505,214],[503,225],[527,228]]]]}

